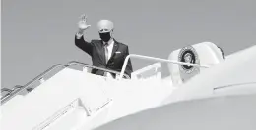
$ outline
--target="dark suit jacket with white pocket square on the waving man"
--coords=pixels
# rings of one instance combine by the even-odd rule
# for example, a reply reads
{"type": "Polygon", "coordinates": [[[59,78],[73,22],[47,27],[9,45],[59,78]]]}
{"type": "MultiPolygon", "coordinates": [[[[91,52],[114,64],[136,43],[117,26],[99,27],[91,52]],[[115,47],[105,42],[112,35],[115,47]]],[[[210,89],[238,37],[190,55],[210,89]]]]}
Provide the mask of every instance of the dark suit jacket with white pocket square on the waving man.
{"type": "MultiPolygon", "coordinates": [[[[83,51],[85,51],[91,56],[93,65],[119,71],[119,72],[122,69],[126,56],[129,55],[128,46],[114,40],[112,55],[108,60],[108,62],[106,63],[102,40],[92,40],[91,42],[87,42],[84,40],[83,36],[80,39],[77,39],[75,36],[75,44],[77,47],[79,47],[80,49],[82,49],[83,51]],[[121,52],[121,53],[116,53],[116,52],[121,52]]],[[[131,60],[129,59],[125,69],[125,73],[131,77],[132,71],[133,71],[133,68],[132,68],[131,60]]],[[[92,73],[97,75],[103,75],[104,71],[93,69],[92,73]]],[[[114,77],[116,76],[115,74],[112,74],[112,75],[114,77]]]]}

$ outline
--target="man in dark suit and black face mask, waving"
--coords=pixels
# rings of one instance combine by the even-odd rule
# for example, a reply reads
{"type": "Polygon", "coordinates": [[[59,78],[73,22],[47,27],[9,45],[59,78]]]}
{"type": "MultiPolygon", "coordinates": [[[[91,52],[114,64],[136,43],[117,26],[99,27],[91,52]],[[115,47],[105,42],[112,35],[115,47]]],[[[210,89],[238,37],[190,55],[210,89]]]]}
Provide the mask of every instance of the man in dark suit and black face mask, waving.
{"type": "MultiPolygon", "coordinates": [[[[126,56],[129,55],[129,49],[127,45],[113,38],[113,22],[109,20],[100,20],[97,22],[100,40],[88,42],[84,40],[84,32],[91,25],[87,24],[87,17],[85,15],[82,15],[81,18],[78,23],[79,31],[75,36],[75,45],[92,57],[93,65],[120,72],[126,56]]],[[[131,77],[132,71],[132,64],[129,60],[125,73],[131,77]]],[[[92,73],[107,77],[116,77],[113,73],[98,69],[93,69],[92,73]]]]}

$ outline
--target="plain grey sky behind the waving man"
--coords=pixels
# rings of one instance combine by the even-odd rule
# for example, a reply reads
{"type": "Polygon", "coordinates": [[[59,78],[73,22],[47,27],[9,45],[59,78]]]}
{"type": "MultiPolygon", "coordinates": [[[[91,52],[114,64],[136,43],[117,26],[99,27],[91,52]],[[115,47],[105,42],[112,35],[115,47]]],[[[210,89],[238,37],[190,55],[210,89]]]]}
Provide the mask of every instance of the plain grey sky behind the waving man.
{"type": "MultiPolygon", "coordinates": [[[[1,87],[24,85],[52,65],[90,56],[74,44],[77,22],[88,15],[86,39],[96,22],[114,22],[114,37],[130,54],[167,59],[186,45],[211,41],[225,55],[255,45],[254,0],[2,0],[1,87]]],[[[134,69],[153,64],[132,59],[134,69]]],[[[163,65],[163,75],[167,67],[163,65]]]]}

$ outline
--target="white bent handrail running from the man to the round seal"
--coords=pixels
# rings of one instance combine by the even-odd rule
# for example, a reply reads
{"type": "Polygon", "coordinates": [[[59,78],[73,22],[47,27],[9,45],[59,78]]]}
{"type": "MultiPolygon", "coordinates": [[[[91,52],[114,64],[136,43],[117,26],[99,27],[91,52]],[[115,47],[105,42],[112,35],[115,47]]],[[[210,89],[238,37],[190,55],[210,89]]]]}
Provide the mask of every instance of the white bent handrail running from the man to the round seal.
{"type": "Polygon", "coordinates": [[[138,59],[143,59],[143,60],[157,61],[157,62],[162,62],[162,63],[171,63],[171,64],[178,64],[178,65],[191,65],[191,66],[204,67],[204,68],[209,68],[210,67],[208,65],[190,64],[190,63],[185,63],[185,62],[178,62],[178,61],[160,59],[160,58],[155,58],[155,57],[149,57],[149,56],[143,56],[143,55],[137,55],[137,54],[130,54],[125,58],[124,64],[122,66],[121,74],[117,79],[121,79],[121,77],[123,77],[124,71],[125,71],[126,66],[128,64],[128,60],[132,57],[133,58],[138,58],[138,59]]]}

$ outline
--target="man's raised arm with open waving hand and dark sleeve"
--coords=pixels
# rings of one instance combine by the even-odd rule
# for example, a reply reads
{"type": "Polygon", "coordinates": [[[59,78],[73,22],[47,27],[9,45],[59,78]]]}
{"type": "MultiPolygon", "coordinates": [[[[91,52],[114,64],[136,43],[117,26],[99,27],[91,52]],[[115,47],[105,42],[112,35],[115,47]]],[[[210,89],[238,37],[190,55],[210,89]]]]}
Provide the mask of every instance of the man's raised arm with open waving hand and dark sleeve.
{"type": "Polygon", "coordinates": [[[86,29],[88,29],[91,25],[87,24],[87,17],[86,15],[81,16],[81,20],[78,22],[79,30],[75,36],[75,45],[88,53],[90,56],[92,56],[92,44],[90,42],[87,42],[84,40],[84,32],[86,29]]]}

